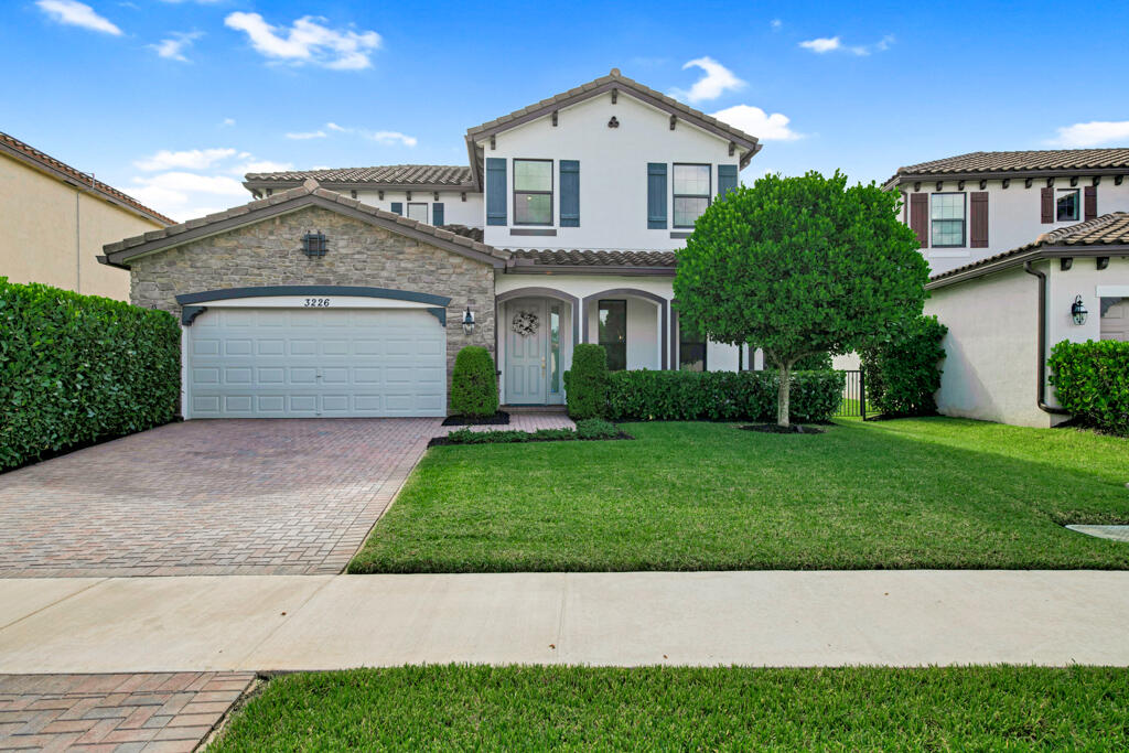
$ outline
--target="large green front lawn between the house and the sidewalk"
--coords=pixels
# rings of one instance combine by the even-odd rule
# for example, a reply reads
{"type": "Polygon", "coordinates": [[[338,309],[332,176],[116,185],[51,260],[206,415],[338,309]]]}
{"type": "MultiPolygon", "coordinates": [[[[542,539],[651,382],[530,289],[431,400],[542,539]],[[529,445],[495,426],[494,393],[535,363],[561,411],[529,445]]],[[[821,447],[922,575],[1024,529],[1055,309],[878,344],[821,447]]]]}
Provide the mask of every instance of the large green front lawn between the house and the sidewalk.
{"type": "Polygon", "coordinates": [[[930,418],[436,447],[352,572],[1129,568],[1129,440],[930,418]]]}

